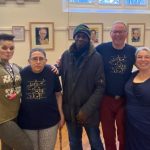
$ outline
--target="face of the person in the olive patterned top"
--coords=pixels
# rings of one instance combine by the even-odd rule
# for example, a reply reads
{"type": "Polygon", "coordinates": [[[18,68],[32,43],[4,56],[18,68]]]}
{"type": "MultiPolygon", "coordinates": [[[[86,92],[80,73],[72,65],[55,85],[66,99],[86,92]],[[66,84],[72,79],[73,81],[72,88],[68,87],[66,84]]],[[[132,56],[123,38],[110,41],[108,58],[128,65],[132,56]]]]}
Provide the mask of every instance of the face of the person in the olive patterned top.
{"type": "Polygon", "coordinates": [[[13,41],[0,41],[0,59],[4,62],[9,62],[14,54],[14,48],[13,41]]]}

